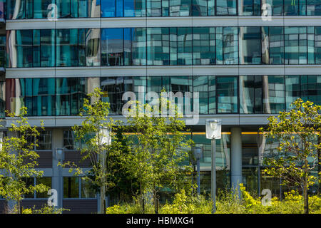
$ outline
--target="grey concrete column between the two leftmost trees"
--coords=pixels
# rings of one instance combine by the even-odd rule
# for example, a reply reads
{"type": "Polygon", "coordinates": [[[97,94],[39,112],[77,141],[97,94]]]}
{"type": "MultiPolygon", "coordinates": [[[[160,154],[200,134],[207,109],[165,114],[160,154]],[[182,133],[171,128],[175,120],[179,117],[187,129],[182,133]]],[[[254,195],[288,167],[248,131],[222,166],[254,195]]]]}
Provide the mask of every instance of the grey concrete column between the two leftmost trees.
{"type": "Polygon", "coordinates": [[[63,130],[54,129],[52,130],[52,188],[57,190],[58,193],[58,208],[63,207],[63,177],[62,167],[58,166],[58,160],[55,157],[56,148],[63,148],[63,130]]]}

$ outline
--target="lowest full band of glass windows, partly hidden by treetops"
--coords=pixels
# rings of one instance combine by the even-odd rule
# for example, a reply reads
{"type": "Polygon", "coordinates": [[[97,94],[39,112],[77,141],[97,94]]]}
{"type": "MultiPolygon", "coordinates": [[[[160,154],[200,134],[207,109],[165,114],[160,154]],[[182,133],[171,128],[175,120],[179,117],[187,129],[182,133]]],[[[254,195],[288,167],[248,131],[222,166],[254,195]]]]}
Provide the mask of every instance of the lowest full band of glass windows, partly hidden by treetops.
{"type": "MultiPolygon", "coordinates": [[[[110,115],[122,115],[127,102],[123,93],[134,92],[140,98],[139,86],[159,95],[162,88],[174,94],[198,93],[201,115],[277,114],[298,97],[321,105],[321,76],[118,76],[6,79],[6,100],[10,100],[6,109],[19,113],[26,105],[33,116],[78,115],[83,98],[98,86],[106,92],[103,100],[111,104],[110,115]]],[[[150,102],[145,95],[141,101],[150,102]]],[[[190,110],[182,108],[192,112],[193,99],[187,101],[190,110]]]]}

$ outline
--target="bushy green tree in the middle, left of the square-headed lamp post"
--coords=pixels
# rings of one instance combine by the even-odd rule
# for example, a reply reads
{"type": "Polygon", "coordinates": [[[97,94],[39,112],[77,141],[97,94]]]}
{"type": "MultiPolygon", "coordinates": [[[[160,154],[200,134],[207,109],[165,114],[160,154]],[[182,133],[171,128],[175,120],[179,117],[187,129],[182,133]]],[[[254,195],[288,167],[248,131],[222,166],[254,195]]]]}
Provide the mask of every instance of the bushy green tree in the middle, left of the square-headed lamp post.
{"type": "Polygon", "coordinates": [[[185,138],[185,122],[177,107],[163,97],[157,100],[156,103],[169,109],[171,115],[161,115],[158,105],[134,101],[127,118],[128,131],[134,136],[130,142],[128,167],[139,183],[142,206],[144,195],[152,192],[156,213],[161,188],[170,187],[174,192],[184,187],[189,192],[193,189],[191,178],[186,177],[193,171],[188,160],[193,141],[185,138]]]}

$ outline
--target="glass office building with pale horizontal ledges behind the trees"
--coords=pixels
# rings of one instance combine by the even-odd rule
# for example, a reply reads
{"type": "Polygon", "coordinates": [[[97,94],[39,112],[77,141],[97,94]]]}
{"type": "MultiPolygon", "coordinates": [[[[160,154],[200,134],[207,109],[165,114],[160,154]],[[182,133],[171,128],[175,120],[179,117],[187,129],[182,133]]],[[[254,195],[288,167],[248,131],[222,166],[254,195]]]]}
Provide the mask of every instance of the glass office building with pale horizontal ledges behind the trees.
{"type": "MultiPolygon", "coordinates": [[[[5,110],[26,106],[32,125],[44,120],[36,148],[44,177],[28,183],[58,190],[59,206],[76,213],[97,212],[98,197],[81,178],[58,170],[54,152],[63,148],[65,160],[90,167],[78,163],[71,127],[81,123],[83,98],[96,87],[107,92],[110,115],[120,120],[123,94],[140,87],[143,95],[162,88],[198,93],[198,121],[186,135],[203,148],[201,192],[210,192],[211,181],[205,120],[220,118],[218,189],[243,182],[256,195],[268,188],[280,196],[287,190],[282,180],[263,172],[263,157],[276,152],[277,142],[267,142],[258,128],[296,98],[321,105],[321,1],[0,1],[1,118],[9,126],[5,110]],[[270,21],[261,17],[265,4],[270,21]]],[[[23,204],[46,198],[30,194],[23,204]]]]}

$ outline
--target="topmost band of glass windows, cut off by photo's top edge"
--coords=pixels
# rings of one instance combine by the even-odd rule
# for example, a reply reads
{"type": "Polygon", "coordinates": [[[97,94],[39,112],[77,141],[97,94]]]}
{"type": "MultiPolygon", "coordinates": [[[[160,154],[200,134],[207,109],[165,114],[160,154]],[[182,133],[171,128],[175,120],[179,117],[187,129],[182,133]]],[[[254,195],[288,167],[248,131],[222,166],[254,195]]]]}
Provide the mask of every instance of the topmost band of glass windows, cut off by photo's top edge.
{"type": "Polygon", "coordinates": [[[263,4],[274,16],[320,16],[319,0],[7,0],[6,19],[133,16],[258,16],[263,4]],[[240,5],[238,10],[238,5],[240,5]]]}

